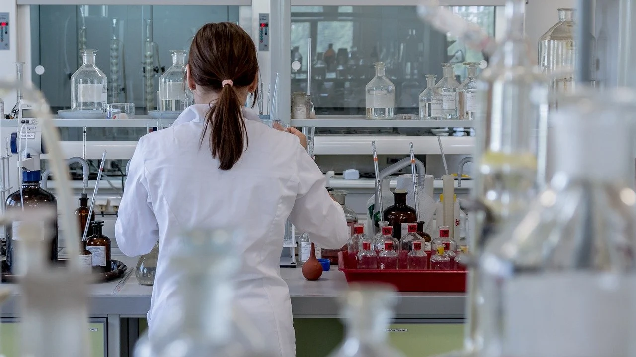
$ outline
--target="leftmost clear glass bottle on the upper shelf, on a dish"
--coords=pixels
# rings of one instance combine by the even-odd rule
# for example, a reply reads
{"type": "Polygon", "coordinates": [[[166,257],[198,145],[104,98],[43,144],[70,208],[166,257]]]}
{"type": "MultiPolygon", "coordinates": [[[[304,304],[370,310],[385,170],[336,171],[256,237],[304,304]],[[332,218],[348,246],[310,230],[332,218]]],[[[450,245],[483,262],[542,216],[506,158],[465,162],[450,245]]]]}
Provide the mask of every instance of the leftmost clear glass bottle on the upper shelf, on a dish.
{"type": "Polygon", "coordinates": [[[81,50],[82,66],[71,76],[71,109],[106,110],[108,80],[95,65],[97,50],[81,50]]]}

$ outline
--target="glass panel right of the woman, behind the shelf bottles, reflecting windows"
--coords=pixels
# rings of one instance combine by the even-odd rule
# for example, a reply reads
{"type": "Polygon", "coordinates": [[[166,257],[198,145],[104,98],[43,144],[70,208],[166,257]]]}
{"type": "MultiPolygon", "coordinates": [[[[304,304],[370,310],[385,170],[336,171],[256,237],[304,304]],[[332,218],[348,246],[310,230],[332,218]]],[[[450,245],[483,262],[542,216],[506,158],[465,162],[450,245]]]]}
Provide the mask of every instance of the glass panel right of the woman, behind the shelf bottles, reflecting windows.
{"type": "MultiPolygon", "coordinates": [[[[502,6],[453,6],[453,12],[495,36],[502,6]]],[[[291,93],[307,90],[307,38],[312,38],[311,93],[316,114],[364,114],[364,87],[383,62],[395,85],[396,114],[417,114],[425,75],[442,76],[443,63],[455,64],[457,81],[464,62],[487,58],[417,17],[414,6],[292,6],[291,93]]]]}

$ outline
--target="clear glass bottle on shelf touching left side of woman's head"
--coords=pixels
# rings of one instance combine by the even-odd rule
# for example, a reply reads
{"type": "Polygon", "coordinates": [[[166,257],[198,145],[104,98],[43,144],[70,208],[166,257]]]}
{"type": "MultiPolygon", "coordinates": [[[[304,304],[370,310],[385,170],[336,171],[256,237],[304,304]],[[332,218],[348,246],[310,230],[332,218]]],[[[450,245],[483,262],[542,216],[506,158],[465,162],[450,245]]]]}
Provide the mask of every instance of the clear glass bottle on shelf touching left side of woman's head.
{"type": "Polygon", "coordinates": [[[170,50],[172,67],[159,79],[159,109],[183,111],[186,109],[186,51],[170,50]]]}

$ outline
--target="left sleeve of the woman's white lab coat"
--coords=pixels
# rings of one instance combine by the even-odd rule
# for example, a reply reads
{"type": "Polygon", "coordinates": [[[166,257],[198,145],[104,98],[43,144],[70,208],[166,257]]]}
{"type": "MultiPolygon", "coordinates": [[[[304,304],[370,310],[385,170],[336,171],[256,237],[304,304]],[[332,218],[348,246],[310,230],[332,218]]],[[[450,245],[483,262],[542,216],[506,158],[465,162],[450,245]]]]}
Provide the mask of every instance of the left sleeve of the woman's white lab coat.
{"type": "Polygon", "coordinates": [[[148,194],[143,139],[139,140],[130,159],[126,187],[115,223],[115,238],[121,252],[128,257],[149,253],[159,239],[159,227],[148,194]]]}

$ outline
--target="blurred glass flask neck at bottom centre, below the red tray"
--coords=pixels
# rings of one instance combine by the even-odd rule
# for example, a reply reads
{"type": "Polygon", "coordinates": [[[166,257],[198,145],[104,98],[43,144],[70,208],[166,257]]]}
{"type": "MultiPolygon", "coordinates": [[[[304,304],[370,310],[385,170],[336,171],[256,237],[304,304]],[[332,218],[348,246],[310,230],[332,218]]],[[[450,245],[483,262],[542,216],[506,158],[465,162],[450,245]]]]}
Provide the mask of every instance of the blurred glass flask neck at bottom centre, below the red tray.
{"type": "Polygon", "coordinates": [[[397,295],[390,285],[349,285],[340,297],[341,316],[347,327],[345,340],[328,357],[404,357],[387,339],[396,302],[397,295]]]}

